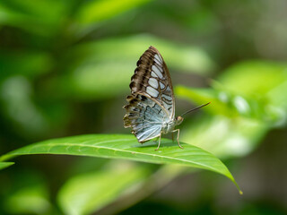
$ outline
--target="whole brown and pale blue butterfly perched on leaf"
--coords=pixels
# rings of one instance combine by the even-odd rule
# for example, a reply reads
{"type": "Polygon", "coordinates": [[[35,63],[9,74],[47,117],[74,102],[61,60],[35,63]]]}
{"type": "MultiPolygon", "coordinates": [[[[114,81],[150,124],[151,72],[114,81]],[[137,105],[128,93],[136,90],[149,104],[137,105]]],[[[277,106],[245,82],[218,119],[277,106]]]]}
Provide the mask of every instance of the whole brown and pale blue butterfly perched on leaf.
{"type": "MultiPolygon", "coordinates": [[[[175,129],[175,126],[182,123],[183,117],[175,117],[170,73],[160,52],[155,47],[149,47],[136,65],[129,85],[132,95],[126,97],[129,104],[125,106],[124,126],[131,127],[141,143],[160,137],[158,150],[162,133],[178,132],[179,137],[179,129],[175,129]]],[[[182,148],[179,141],[178,146],[182,148]]]]}

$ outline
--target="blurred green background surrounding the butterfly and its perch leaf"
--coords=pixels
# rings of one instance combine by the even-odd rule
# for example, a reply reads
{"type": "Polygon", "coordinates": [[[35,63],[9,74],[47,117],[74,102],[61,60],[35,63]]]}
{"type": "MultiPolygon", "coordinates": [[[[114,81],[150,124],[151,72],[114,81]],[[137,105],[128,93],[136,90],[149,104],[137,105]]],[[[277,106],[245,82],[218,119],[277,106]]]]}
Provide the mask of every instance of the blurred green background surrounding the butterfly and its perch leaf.
{"type": "Polygon", "coordinates": [[[170,68],[180,141],[222,176],[34,155],[0,172],[0,214],[286,214],[287,2],[1,0],[0,153],[49,138],[130,133],[128,84],[150,45],[170,68]]]}

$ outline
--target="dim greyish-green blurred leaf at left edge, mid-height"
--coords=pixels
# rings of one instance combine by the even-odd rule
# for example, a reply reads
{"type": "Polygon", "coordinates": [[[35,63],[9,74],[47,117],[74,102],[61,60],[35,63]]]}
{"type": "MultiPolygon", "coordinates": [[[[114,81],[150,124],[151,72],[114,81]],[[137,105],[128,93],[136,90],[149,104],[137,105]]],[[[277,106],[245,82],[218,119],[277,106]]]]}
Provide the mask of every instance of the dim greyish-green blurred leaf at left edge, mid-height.
{"type": "Polygon", "coordinates": [[[48,122],[31,100],[31,86],[23,76],[6,79],[0,86],[0,103],[5,116],[13,122],[16,133],[39,135],[48,129],[48,122]]]}

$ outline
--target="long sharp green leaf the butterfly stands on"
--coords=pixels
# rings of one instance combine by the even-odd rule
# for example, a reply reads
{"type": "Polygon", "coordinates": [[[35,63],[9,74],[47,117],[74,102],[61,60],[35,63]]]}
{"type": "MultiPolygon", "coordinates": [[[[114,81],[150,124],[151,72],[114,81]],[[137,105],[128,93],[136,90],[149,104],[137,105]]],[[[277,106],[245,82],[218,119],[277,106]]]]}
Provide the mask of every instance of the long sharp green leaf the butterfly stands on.
{"type": "MultiPolygon", "coordinates": [[[[5,154],[0,160],[28,154],[65,154],[109,159],[130,159],[158,164],[178,164],[217,172],[227,176],[237,185],[228,168],[213,154],[186,143],[182,143],[183,147],[185,147],[182,150],[178,148],[176,142],[166,139],[162,140],[161,149],[155,151],[156,144],[156,142],[148,142],[140,145],[133,135],[87,134],[31,144],[5,154]]],[[[237,187],[239,189],[238,185],[237,187]]]]}

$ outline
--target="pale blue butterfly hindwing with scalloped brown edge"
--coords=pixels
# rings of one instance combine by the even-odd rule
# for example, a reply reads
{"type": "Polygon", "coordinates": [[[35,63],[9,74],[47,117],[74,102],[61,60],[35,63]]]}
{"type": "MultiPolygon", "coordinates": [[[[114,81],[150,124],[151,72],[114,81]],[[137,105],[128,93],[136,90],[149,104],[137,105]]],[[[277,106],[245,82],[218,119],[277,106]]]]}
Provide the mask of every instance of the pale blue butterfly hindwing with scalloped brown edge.
{"type": "Polygon", "coordinates": [[[161,135],[162,124],[169,121],[166,111],[153,99],[136,94],[127,98],[125,126],[132,127],[139,142],[161,135]]]}

